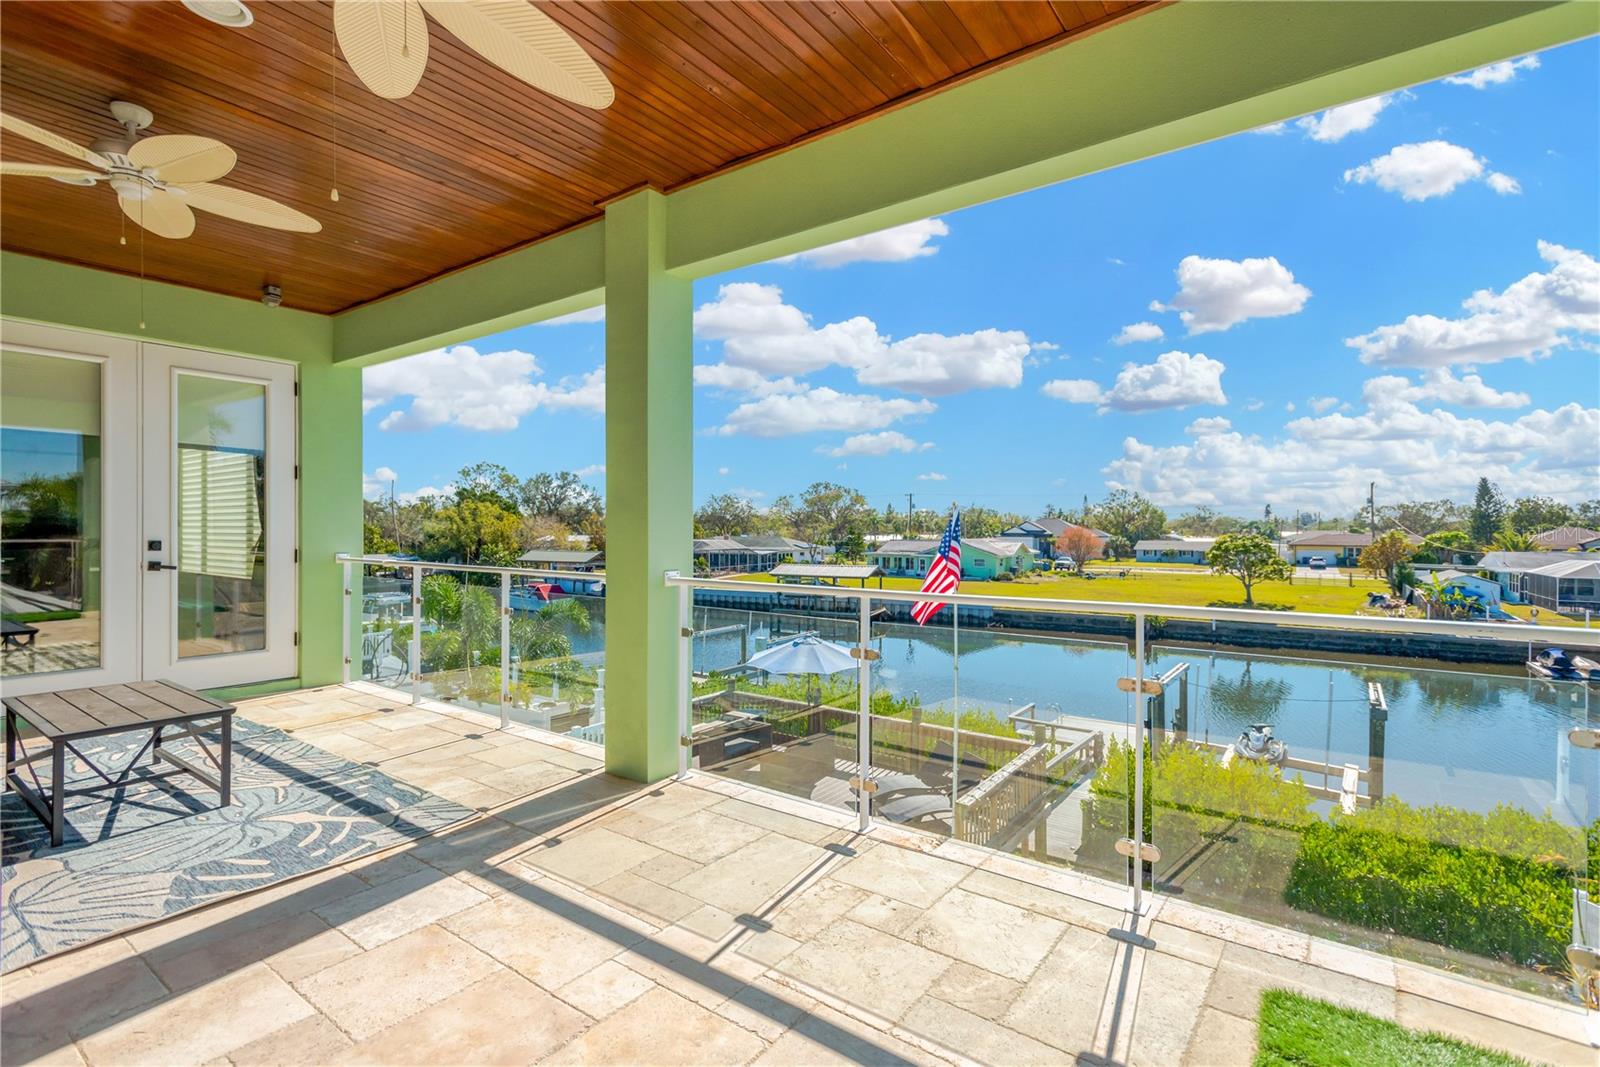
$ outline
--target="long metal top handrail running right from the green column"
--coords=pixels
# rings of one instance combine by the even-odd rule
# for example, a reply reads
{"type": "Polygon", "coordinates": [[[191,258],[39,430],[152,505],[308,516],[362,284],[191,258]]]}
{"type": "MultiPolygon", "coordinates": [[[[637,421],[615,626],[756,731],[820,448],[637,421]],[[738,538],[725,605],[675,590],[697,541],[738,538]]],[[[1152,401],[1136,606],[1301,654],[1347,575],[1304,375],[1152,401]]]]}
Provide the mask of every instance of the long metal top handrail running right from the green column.
{"type": "MultiPolygon", "coordinates": [[[[792,585],[770,585],[765,582],[741,582],[720,577],[685,577],[669,571],[667,585],[686,585],[690,589],[715,589],[739,593],[795,593],[792,585]]],[[[896,601],[915,603],[930,600],[928,593],[909,589],[845,589],[838,585],[805,585],[798,595],[834,597],[837,600],[896,601]]],[[[962,608],[1013,608],[1022,611],[1053,611],[1082,614],[1110,614],[1163,619],[1198,619],[1203,622],[1261,622],[1267,625],[1298,625],[1341,630],[1371,630],[1389,633],[1435,633],[1448,637],[1482,637],[1509,641],[1538,641],[1541,645],[1578,645],[1584,648],[1600,648],[1600,630],[1533,625],[1514,622],[1459,622],[1451,619],[1397,619],[1389,616],[1365,614],[1312,614],[1291,611],[1262,611],[1259,608],[1195,608],[1189,605],[1162,603],[1112,603],[1106,600],[1056,600],[1053,597],[992,597],[981,593],[944,593],[941,603],[962,608]]]]}

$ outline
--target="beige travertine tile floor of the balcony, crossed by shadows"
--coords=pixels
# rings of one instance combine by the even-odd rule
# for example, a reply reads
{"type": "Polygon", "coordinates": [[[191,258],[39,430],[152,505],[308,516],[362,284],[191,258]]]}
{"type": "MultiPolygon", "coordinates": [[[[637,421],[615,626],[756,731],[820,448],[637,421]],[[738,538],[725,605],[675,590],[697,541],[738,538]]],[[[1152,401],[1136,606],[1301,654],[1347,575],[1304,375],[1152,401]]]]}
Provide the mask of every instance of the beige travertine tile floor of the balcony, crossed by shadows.
{"type": "Polygon", "coordinates": [[[486,718],[240,712],[486,811],[6,974],[5,1064],[1245,1064],[1272,985],[1600,1062],[1557,1005],[1178,901],[1126,931],[1101,883],[486,718]]]}

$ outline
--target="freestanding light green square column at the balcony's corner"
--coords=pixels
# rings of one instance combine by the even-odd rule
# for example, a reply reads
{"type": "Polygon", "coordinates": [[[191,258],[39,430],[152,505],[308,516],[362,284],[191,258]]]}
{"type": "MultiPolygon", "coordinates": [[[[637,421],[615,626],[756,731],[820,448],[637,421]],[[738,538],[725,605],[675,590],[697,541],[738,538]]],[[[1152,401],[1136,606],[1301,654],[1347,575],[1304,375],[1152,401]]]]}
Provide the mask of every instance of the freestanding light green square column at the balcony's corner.
{"type": "Polygon", "coordinates": [[[693,537],[693,286],[666,270],[667,200],[605,213],[606,769],[674,774],[678,593],[693,537]]]}

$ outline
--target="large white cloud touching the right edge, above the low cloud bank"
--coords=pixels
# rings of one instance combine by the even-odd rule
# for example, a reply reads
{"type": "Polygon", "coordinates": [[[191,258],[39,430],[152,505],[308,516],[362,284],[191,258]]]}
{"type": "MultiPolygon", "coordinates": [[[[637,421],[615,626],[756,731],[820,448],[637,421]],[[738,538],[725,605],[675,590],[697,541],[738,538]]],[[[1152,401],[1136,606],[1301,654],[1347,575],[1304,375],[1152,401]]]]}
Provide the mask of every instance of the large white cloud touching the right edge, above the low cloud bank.
{"type": "Polygon", "coordinates": [[[1502,293],[1478,290],[1462,301],[1462,318],[1408,315],[1344,344],[1363,363],[1427,368],[1533,360],[1579,344],[1574,334],[1600,334],[1600,262],[1549,242],[1539,242],[1539,258],[1550,270],[1512,282],[1502,293]]]}

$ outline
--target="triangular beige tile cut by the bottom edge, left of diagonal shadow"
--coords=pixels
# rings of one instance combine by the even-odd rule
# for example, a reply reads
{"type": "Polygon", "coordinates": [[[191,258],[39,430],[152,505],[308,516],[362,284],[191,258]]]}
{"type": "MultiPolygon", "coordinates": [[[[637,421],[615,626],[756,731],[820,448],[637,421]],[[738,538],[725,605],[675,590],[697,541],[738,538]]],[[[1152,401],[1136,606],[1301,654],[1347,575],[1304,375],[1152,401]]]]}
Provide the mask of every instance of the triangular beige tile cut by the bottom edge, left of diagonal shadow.
{"type": "Polygon", "coordinates": [[[558,1049],[550,1064],[742,1064],[762,1038],[666,989],[653,989],[558,1049]]]}

